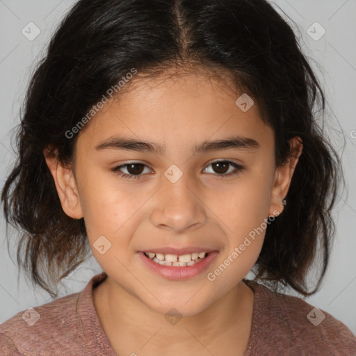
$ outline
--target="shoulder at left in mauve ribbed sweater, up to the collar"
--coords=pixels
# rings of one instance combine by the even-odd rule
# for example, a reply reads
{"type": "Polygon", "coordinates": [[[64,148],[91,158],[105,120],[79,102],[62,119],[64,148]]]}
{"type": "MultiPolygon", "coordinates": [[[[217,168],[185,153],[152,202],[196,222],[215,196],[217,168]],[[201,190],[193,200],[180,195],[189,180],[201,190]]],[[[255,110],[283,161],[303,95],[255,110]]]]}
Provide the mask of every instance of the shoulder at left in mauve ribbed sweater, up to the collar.
{"type": "Polygon", "coordinates": [[[17,313],[0,325],[0,355],[95,355],[106,339],[92,303],[92,289],[106,277],[95,275],[85,289],[17,313]],[[94,330],[93,330],[94,329],[94,330]]]}

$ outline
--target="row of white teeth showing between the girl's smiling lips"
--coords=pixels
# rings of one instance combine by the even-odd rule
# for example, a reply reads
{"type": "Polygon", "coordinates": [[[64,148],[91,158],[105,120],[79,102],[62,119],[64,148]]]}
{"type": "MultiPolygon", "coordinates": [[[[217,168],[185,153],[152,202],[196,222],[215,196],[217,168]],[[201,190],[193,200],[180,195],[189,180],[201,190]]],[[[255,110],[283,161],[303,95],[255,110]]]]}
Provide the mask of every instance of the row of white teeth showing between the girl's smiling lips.
{"type": "Polygon", "coordinates": [[[162,254],[156,252],[143,252],[145,256],[156,264],[163,266],[187,267],[199,264],[209,256],[209,252],[193,252],[188,254],[162,254]]]}

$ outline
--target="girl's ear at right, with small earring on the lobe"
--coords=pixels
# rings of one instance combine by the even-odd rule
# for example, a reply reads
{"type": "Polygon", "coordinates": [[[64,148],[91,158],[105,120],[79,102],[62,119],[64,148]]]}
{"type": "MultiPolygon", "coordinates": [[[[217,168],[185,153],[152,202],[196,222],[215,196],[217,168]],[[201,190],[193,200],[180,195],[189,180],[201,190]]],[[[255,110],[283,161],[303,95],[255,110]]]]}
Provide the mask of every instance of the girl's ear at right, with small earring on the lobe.
{"type": "Polygon", "coordinates": [[[289,191],[294,170],[296,169],[300,154],[302,154],[303,145],[302,139],[299,136],[291,138],[289,140],[289,145],[292,149],[289,161],[275,170],[275,179],[273,181],[273,188],[270,195],[268,216],[275,216],[275,213],[273,213],[275,211],[282,213],[284,209],[282,201],[289,191]]]}

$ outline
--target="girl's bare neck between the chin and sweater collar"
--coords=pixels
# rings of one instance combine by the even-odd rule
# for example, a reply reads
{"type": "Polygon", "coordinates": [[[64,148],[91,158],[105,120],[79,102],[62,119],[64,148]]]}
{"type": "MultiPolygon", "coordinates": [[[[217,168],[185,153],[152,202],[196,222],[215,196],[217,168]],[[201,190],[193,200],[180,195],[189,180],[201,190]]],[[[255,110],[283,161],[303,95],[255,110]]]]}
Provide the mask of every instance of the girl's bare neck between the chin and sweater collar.
{"type": "Polygon", "coordinates": [[[120,355],[135,350],[147,355],[191,355],[202,354],[204,348],[218,354],[226,348],[243,355],[250,337],[253,299],[252,290],[241,281],[199,314],[170,323],[110,277],[93,290],[99,320],[120,355]]]}

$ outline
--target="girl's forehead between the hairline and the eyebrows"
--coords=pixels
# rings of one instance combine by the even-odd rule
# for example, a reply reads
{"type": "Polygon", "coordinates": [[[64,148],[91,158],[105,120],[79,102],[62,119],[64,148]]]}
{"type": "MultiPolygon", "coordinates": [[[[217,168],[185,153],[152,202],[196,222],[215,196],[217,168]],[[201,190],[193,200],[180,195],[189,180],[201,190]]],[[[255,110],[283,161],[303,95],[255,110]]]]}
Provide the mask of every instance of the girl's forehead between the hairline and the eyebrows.
{"type": "Polygon", "coordinates": [[[109,136],[124,135],[165,143],[169,149],[170,143],[191,145],[231,133],[273,134],[262,122],[257,103],[245,112],[236,105],[242,94],[231,81],[213,75],[136,76],[92,118],[80,141],[94,147],[109,136]]]}

